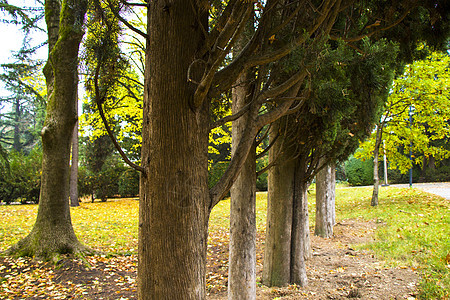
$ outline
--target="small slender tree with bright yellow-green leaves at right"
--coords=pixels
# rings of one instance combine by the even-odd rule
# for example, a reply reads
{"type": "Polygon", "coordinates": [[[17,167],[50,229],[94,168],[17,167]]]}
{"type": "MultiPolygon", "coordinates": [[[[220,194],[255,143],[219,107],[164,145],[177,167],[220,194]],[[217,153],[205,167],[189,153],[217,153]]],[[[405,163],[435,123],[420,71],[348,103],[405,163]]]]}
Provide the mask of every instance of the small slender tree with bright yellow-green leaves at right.
{"type": "Polygon", "coordinates": [[[423,165],[427,159],[440,161],[450,152],[439,140],[448,138],[450,116],[450,83],[448,53],[433,52],[424,60],[415,61],[394,82],[377,130],[363,143],[356,157],[374,159],[374,190],[371,205],[378,205],[378,161],[380,146],[386,141],[390,168],[407,172],[413,164],[423,165]],[[414,109],[410,124],[410,109],[414,109]],[[409,151],[414,153],[410,160],[409,151]]]}

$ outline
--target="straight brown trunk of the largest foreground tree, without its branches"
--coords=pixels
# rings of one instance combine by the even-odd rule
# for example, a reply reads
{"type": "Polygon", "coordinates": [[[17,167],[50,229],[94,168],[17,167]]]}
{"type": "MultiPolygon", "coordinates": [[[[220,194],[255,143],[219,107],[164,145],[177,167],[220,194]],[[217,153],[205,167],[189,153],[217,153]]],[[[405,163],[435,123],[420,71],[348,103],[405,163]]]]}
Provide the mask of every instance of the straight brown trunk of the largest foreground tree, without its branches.
{"type": "MultiPolygon", "coordinates": [[[[195,2],[152,2],[139,205],[139,299],[204,299],[208,233],[209,111],[192,108],[186,80],[204,36],[195,2]],[[197,24],[197,25],[194,25],[197,24]]],[[[191,75],[201,77],[201,64],[191,75]]],[[[206,102],[206,101],[205,101],[206,102]]]]}

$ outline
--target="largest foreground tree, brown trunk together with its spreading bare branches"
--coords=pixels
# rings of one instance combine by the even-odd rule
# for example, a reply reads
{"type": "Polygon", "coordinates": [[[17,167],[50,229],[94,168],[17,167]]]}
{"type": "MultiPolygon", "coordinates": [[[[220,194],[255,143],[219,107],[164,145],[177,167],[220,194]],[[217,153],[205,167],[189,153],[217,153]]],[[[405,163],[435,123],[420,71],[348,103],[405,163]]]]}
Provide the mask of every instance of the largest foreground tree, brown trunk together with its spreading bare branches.
{"type": "MultiPolygon", "coordinates": [[[[205,297],[210,211],[237,178],[260,128],[300,102],[296,90],[307,77],[307,68],[281,77],[278,62],[326,36],[346,8],[341,1],[288,4],[180,0],[148,5],[147,33],[141,32],[147,37],[142,165],[136,166],[142,172],[138,267],[142,299],[205,297]],[[252,15],[258,26],[229,61],[228,54],[252,15]],[[290,34],[280,34],[284,29],[290,34]],[[261,71],[266,66],[270,72],[261,71]],[[208,189],[208,136],[215,127],[211,103],[251,68],[257,68],[261,80],[255,97],[226,119],[245,114],[245,130],[224,175],[208,189]]],[[[96,90],[97,100],[104,99],[101,89],[96,90]]]]}

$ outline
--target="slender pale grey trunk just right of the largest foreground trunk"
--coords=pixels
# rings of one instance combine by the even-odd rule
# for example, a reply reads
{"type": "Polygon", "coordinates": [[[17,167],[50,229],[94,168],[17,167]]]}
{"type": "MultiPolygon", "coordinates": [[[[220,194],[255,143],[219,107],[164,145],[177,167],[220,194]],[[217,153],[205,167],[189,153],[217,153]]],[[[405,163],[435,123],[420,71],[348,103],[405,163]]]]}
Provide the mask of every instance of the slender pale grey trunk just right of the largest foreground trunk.
{"type": "MultiPolygon", "coordinates": [[[[233,88],[233,114],[250,99],[250,74],[239,77],[233,88]]],[[[245,130],[247,115],[233,122],[232,149],[245,130]]],[[[228,269],[228,299],[256,299],[256,147],[250,150],[239,177],[231,188],[230,256],[228,269]]]]}

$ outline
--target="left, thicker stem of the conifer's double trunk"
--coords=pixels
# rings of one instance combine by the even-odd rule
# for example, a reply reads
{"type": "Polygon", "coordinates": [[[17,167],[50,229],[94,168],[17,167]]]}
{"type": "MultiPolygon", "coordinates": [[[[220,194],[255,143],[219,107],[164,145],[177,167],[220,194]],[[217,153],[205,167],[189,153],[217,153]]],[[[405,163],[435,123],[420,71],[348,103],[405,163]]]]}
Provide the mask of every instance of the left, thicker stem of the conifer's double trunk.
{"type": "MultiPolygon", "coordinates": [[[[272,124],[270,139],[284,130],[285,119],[272,124]]],[[[268,174],[268,207],[264,250],[263,284],[284,286],[290,283],[292,209],[295,164],[282,141],[269,150],[269,163],[275,164],[268,174]]]]}

